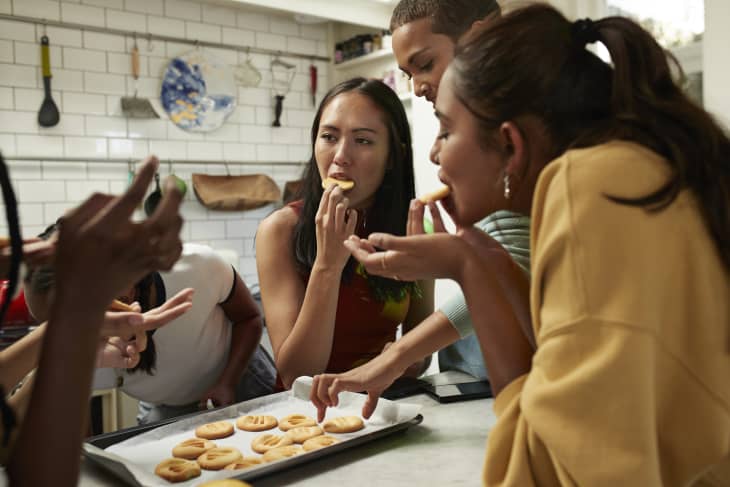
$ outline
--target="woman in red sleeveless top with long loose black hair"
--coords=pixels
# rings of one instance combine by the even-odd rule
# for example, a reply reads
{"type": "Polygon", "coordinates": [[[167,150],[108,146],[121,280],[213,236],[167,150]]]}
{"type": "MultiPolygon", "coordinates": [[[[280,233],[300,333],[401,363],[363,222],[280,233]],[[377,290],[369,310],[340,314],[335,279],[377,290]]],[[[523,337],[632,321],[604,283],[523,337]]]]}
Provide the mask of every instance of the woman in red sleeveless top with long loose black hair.
{"type": "Polygon", "coordinates": [[[408,331],[430,313],[431,283],[370,275],[343,245],[352,233],[405,235],[414,193],[410,130],[398,97],[377,80],[335,86],[312,125],[300,199],[266,218],[256,237],[281,385],[356,367],[392,342],[399,324],[408,331]]]}

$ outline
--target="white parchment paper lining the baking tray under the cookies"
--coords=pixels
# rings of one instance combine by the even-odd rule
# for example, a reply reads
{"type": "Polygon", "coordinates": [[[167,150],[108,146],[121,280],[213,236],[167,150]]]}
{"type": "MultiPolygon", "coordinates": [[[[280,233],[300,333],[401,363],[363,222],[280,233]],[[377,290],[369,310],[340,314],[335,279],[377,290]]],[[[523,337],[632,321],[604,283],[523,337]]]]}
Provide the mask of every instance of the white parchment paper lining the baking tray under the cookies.
{"type": "MultiPolygon", "coordinates": [[[[405,429],[421,421],[419,411],[421,406],[414,404],[394,403],[386,399],[378,401],[378,407],[372,417],[365,421],[365,428],[354,433],[332,434],[340,443],[332,446],[302,453],[290,458],[272,463],[264,463],[245,470],[202,470],[200,477],[172,484],[155,475],[155,467],[166,458],[172,457],[175,445],[188,438],[195,437],[195,428],[213,421],[229,420],[234,423],[240,416],[247,414],[267,414],[281,419],[289,414],[305,414],[317,418],[317,410],[309,401],[309,392],[312,385],[311,377],[299,377],[291,391],[280,392],[264,396],[227,408],[202,413],[192,418],[186,418],[165,426],[161,426],[147,433],[142,433],[128,440],[102,450],[93,445],[84,445],[84,455],[92,462],[115,473],[131,485],[140,486],[194,486],[207,480],[235,477],[252,479],[262,475],[275,473],[308,462],[323,456],[341,451],[345,448],[357,446],[361,443],[374,440],[385,434],[405,429]]],[[[325,420],[338,416],[360,416],[365,396],[349,392],[340,393],[340,403],[336,408],[327,409],[325,420]]],[[[244,457],[259,457],[251,449],[251,441],[262,434],[283,434],[279,428],[268,431],[248,432],[235,428],[233,436],[213,440],[217,446],[232,446],[238,448],[244,457]]]]}

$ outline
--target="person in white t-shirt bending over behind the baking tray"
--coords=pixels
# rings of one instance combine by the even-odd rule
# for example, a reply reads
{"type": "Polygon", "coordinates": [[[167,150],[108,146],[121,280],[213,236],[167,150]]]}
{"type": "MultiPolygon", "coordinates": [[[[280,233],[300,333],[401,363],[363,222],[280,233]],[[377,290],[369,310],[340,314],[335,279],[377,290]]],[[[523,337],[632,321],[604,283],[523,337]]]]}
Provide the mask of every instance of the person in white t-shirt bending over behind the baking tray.
{"type": "MultiPolygon", "coordinates": [[[[259,309],[238,273],[210,247],[187,243],[167,272],[146,276],[118,298],[143,311],[193,288],[192,308],[148,332],[133,369],[98,369],[94,387],[117,386],[140,401],[148,424],[273,392],[276,372],[261,347],[259,309]]],[[[38,290],[36,290],[38,291],[38,290]]]]}

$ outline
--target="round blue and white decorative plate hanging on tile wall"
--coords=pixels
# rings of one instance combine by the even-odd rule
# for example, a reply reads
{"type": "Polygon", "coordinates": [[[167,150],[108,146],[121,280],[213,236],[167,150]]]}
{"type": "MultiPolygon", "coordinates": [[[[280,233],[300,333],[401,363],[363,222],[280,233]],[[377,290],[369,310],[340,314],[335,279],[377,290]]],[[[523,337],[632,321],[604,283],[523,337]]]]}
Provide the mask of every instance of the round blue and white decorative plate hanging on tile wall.
{"type": "Polygon", "coordinates": [[[215,56],[195,49],[173,58],[162,79],[160,101],[183,130],[210,132],[236,108],[233,72],[215,56]]]}

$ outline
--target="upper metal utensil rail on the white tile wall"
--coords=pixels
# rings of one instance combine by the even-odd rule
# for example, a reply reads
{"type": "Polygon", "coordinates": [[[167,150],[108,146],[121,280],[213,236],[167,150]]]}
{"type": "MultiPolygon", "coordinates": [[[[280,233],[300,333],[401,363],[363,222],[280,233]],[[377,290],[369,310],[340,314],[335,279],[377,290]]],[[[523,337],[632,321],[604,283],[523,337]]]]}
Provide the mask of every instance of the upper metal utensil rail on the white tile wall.
{"type": "Polygon", "coordinates": [[[146,38],[148,40],[156,40],[156,41],[165,41],[165,42],[176,42],[180,44],[190,44],[194,46],[201,46],[201,47],[210,47],[214,49],[231,49],[234,51],[248,51],[252,53],[257,54],[268,54],[271,56],[286,56],[286,57],[293,57],[293,58],[300,58],[300,59],[312,59],[316,61],[327,61],[329,62],[330,58],[328,56],[315,56],[311,54],[301,54],[298,52],[290,52],[290,51],[278,51],[276,49],[265,49],[262,47],[252,47],[252,46],[237,46],[235,44],[224,44],[222,42],[208,42],[208,41],[201,41],[198,39],[186,39],[184,37],[175,37],[175,36],[166,36],[161,34],[152,34],[149,32],[137,32],[132,30],[124,30],[124,29],[114,29],[112,27],[98,27],[95,25],[87,25],[87,24],[78,24],[76,22],[62,22],[59,20],[46,20],[46,19],[39,19],[36,17],[26,17],[22,15],[9,15],[9,14],[0,14],[1,20],[11,20],[15,22],[25,22],[28,24],[38,24],[38,25],[45,25],[45,26],[53,26],[53,27],[62,27],[64,29],[77,29],[77,30],[83,30],[83,31],[89,31],[89,32],[100,32],[102,34],[116,34],[120,36],[134,36],[137,35],[140,38],[146,38]]]}

